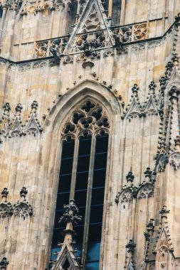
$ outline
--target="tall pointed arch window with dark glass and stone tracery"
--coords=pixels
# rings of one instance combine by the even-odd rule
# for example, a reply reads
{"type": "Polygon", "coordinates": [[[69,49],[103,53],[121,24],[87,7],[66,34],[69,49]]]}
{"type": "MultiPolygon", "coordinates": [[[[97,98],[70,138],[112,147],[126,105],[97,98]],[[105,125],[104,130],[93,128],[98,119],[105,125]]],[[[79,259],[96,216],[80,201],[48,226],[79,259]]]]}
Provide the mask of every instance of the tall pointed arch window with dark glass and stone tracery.
{"type": "Polygon", "coordinates": [[[63,242],[58,220],[63,205],[74,199],[83,217],[75,227],[76,247],[84,269],[98,269],[110,124],[100,104],[87,100],[62,130],[58,195],[51,259],[63,242]]]}

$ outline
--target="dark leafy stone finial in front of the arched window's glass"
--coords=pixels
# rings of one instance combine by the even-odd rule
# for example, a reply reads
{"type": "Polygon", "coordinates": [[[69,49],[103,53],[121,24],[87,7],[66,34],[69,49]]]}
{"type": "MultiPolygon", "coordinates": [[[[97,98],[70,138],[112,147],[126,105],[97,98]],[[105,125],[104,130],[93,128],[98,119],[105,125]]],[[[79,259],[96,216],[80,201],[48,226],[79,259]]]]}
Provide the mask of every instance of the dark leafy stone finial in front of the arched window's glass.
{"type": "Polygon", "coordinates": [[[79,210],[75,204],[75,200],[71,199],[68,205],[64,205],[64,209],[65,213],[60,217],[59,223],[67,224],[71,222],[73,225],[76,225],[80,222],[81,216],[78,215],[79,210]]]}

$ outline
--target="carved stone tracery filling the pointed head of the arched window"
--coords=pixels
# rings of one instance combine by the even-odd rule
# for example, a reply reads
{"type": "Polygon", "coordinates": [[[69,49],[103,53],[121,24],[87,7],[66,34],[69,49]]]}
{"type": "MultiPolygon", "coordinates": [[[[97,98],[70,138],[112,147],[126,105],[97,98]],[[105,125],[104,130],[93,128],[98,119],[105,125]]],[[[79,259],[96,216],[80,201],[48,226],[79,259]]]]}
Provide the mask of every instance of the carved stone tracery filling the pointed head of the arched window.
{"type": "Polygon", "coordinates": [[[68,137],[73,138],[75,134],[84,136],[83,132],[98,134],[102,131],[107,132],[109,127],[107,114],[102,107],[91,100],[87,100],[75,109],[68,118],[63,127],[62,136],[67,139],[68,137]]]}

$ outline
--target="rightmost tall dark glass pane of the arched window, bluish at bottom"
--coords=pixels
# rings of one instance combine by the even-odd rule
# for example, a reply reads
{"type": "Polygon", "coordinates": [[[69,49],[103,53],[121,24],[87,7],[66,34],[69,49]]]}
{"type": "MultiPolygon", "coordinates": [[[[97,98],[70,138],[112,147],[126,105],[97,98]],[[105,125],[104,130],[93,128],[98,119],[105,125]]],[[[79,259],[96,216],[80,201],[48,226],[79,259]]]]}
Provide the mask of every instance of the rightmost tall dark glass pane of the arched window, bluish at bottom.
{"type": "Polygon", "coordinates": [[[88,235],[88,254],[86,259],[86,269],[98,269],[99,265],[98,261],[100,255],[102,212],[105,193],[107,146],[108,135],[104,134],[102,136],[97,136],[92,185],[92,200],[90,207],[90,225],[88,235]]]}

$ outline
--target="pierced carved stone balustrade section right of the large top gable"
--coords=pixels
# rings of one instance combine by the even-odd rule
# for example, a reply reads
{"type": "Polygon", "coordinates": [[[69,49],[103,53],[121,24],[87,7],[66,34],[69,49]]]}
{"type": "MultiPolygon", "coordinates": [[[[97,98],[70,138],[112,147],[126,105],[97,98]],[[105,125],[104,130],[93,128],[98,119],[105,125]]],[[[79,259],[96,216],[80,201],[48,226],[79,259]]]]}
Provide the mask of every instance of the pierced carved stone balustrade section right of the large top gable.
{"type": "Polygon", "coordinates": [[[147,38],[147,23],[123,26],[120,27],[116,33],[119,34],[121,43],[142,41],[147,38]]]}

